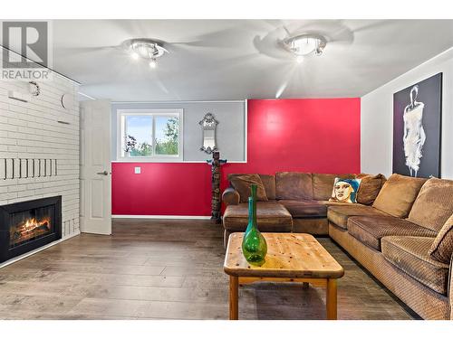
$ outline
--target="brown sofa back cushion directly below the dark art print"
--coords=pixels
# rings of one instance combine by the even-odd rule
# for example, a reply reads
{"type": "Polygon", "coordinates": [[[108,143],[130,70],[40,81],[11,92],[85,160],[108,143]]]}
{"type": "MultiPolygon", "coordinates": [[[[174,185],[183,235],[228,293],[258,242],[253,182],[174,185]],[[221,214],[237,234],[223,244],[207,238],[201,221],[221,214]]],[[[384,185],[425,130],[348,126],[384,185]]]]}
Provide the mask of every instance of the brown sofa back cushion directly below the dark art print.
{"type": "Polygon", "coordinates": [[[426,181],[424,178],[391,174],[372,205],[394,217],[406,218],[421,186],[426,181]]]}

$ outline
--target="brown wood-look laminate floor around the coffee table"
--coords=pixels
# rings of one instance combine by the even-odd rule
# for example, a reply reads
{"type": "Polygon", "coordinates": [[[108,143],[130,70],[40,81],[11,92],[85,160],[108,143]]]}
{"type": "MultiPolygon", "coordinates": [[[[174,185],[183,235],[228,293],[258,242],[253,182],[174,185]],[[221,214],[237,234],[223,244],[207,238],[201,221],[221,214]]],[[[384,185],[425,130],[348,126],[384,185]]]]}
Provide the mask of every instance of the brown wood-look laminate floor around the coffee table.
{"type": "MultiPolygon", "coordinates": [[[[339,319],[411,319],[332,240],[345,269],[339,319]]],[[[114,220],[113,235],[82,234],[0,268],[1,319],[227,319],[222,227],[209,221],[114,220]]],[[[323,288],[239,288],[240,319],[324,319],[323,288]]]]}

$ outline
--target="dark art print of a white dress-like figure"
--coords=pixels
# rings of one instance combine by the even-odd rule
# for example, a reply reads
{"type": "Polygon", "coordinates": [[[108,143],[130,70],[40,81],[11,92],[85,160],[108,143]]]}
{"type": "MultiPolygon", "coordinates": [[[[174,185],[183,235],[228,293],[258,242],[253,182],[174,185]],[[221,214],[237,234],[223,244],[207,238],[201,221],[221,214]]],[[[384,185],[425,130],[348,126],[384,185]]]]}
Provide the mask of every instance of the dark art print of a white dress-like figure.
{"type": "Polygon", "coordinates": [[[393,173],[440,177],[442,73],[393,94],[393,173]]]}

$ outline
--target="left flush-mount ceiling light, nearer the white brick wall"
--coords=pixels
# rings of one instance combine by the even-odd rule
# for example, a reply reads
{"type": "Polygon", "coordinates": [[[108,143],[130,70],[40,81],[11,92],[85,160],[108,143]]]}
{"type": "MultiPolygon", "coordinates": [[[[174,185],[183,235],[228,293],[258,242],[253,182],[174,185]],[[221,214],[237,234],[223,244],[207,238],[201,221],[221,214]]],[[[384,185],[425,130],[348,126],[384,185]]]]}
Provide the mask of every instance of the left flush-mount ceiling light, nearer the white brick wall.
{"type": "Polygon", "coordinates": [[[158,65],[157,60],[166,52],[162,47],[162,42],[152,39],[130,39],[122,43],[127,52],[130,53],[130,58],[133,60],[144,59],[149,61],[149,67],[155,69],[158,65]]]}

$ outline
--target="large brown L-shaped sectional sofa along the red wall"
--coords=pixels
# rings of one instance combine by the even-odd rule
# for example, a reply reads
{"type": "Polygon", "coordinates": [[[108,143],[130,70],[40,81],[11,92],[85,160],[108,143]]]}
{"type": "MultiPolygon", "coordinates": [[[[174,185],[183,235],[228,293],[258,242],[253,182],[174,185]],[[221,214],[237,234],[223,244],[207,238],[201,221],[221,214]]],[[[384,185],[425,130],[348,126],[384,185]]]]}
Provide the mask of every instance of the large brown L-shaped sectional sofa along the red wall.
{"type": "MultiPolygon", "coordinates": [[[[329,235],[421,317],[453,319],[452,259],[440,262],[429,255],[444,223],[453,220],[453,181],[398,174],[387,182],[367,174],[259,177],[267,195],[257,202],[260,231],[329,235]],[[335,177],[365,175],[357,194],[364,203],[328,201],[335,177]]],[[[233,187],[224,191],[223,201],[226,243],[230,233],[245,231],[248,211],[233,187]]]]}

